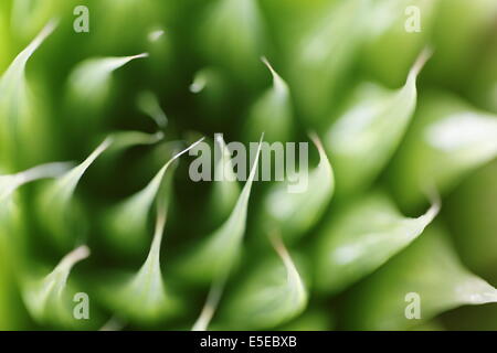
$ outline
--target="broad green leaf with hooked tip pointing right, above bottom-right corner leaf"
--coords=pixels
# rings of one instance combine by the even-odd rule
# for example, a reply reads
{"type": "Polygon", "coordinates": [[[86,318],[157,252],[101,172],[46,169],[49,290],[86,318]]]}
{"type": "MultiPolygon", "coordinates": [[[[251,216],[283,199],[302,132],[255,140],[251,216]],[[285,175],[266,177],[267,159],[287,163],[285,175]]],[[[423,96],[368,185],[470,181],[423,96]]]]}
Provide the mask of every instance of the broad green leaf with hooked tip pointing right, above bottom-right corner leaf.
{"type": "Polygon", "coordinates": [[[337,293],[370,275],[420,236],[438,210],[435,202],[420,217],[405,217],[377,192],[330,216],[317,236],[316,287],[337,293]]]}

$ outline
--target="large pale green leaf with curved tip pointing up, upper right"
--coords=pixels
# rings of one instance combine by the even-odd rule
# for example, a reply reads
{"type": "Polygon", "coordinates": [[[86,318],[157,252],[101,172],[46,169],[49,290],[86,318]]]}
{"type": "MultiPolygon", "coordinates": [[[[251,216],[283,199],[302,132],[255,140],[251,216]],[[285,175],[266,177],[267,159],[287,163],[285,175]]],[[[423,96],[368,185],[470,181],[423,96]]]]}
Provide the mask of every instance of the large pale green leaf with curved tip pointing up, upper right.
{"type": "Polygon", "coordinates": [[[400,89],[361,84],[328,130],[325,143],[340,194],[363,191],[392,157],[414,114],[416,77],[430,56],[430,50],[423,51],[400,89]]]}

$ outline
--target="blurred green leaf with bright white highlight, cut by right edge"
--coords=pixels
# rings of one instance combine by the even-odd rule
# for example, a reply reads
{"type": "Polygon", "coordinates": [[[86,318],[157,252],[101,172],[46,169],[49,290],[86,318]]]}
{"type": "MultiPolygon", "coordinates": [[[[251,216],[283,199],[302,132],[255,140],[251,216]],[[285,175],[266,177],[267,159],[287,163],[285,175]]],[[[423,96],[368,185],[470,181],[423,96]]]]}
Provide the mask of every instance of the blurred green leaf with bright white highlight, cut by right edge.
{"type": "Polygon", "coordinates": [[[426,185],[444,194],[497,156],[497,117],[456,97],[426,96],[414,121],[389,174],[408,207],[423,201],[426,185]]]}

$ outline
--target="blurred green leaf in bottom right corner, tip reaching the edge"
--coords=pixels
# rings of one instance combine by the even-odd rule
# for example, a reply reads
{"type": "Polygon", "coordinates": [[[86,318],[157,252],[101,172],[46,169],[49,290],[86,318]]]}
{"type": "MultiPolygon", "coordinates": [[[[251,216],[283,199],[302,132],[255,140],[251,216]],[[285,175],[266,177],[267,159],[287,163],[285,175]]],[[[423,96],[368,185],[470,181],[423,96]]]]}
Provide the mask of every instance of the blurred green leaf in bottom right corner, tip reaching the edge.
{"type": "Polygon", "coordinates": [[[373,274],[349,296],[347,329],[404,330],[466,304],[497,301],[497,290],[467,271],[446,234],[430,227],[408,249],[373,274]],[[416,293],[421,319],[409,320],[405,310],[416,293]]]}

